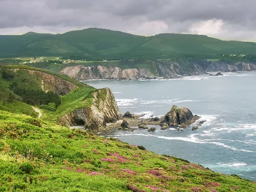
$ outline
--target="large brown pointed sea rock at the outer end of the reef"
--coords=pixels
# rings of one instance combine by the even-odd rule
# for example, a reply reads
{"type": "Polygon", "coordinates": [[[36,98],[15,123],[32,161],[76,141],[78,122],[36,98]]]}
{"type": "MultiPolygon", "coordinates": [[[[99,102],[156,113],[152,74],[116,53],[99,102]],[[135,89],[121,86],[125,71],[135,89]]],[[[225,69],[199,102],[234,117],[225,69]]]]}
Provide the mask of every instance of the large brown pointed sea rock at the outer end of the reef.
{"type": "Polygon", "coordinates": [[[199,116],[193,115],[188,108],[178,108],[173,106],[171,111],[169,111],[161,119],[161,124],[167,124],[169,126],[179,126],[180,128],[186,128],[192,125],[196,120],[200,119],[199,116]]]}

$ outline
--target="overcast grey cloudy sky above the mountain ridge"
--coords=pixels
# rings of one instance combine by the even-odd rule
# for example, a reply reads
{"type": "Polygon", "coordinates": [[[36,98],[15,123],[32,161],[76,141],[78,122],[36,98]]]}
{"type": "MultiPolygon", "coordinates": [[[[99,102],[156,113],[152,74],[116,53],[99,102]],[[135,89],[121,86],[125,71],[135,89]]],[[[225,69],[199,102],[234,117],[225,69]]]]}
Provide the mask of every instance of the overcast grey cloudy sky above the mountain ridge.
{"type": "Polygon", "coordinates": [[[98,27],[256,41],[255,0],[0,0],[0,34],[98,27]]]}

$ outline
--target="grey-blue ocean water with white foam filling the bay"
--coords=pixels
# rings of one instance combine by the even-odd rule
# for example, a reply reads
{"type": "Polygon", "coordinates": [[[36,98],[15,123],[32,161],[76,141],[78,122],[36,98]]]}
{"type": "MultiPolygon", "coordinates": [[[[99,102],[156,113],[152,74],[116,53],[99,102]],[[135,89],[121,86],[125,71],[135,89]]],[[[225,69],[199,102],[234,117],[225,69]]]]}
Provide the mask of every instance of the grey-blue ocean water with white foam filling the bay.
{"type": "Polygon", "coordinates": [[[215,172],[256,180],[256,72],[193,76],[176,80],[84,81],[109,87],[122,113],[163,116],[173,105],[207,120],[198,131],[170,127],[148,133],[113,130],[103,136],[143,145],[158,154],[200,163],[215,172]]]}

